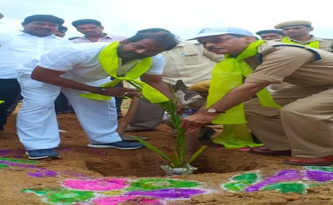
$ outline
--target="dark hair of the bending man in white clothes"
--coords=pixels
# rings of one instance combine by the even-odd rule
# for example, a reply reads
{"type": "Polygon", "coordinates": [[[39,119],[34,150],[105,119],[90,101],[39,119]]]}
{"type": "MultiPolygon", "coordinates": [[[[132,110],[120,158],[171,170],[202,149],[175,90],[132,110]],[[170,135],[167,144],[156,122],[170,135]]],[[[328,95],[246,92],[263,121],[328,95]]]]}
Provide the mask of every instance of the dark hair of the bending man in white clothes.
{"type": "Polygon", "coordinates": [[[170,51],[171,49],[175,48],[179,43],[179,40],[177,40],[175,35],[172,33],[138,33],[130,38],[127,38],[126,43],[134,43],[146,38],[153,39],[156,43],[166,46],[165,51],[170,51]]]}

